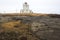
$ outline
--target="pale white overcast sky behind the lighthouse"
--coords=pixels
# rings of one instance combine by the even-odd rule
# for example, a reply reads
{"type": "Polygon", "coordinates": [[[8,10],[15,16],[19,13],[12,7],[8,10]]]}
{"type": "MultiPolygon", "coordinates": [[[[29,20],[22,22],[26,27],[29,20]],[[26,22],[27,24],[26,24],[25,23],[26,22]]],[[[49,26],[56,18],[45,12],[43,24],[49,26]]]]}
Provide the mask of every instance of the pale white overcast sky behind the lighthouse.
{"type": "Polygon", "coordinates": [[[24,2],[36,13],[60,13],[60,0],[0,0],[0,13],[20,12],[24,2]]]}

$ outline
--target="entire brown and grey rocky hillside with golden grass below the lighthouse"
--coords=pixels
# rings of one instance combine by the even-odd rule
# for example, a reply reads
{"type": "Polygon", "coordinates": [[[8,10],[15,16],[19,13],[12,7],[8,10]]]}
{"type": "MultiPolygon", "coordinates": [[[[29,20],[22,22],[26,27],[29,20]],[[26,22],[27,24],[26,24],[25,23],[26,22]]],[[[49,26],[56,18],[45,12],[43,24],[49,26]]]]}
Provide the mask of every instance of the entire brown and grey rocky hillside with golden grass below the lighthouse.
{"type": "Polygon", "coordinates": [[[60,16],[1,14],[0,40],[60,40],[60,16]]]}

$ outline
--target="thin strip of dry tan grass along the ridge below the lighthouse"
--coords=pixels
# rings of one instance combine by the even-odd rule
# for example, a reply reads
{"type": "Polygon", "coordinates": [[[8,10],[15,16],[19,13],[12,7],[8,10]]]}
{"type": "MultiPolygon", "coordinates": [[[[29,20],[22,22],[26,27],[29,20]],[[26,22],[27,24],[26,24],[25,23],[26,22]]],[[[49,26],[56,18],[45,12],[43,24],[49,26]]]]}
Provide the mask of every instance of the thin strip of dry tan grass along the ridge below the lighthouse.
{"type": "Polygon", "coordinates": [[[8,13],[8,14],[1,14],[3,16],[47,16],[48,14],[42,13],[8,13]]]}

